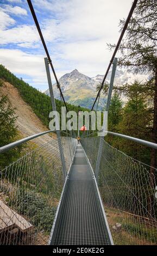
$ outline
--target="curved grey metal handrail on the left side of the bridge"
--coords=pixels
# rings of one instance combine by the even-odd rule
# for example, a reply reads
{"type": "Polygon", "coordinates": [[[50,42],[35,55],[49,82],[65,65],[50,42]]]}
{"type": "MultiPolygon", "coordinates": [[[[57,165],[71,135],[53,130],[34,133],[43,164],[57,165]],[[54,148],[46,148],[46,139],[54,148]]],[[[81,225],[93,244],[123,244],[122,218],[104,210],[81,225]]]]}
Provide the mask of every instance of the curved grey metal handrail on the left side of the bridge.
{"type": "Polygon", "coordinates": [[[34,138],[40,137],[42,135],[45,135],[47,133],[55,132],[55,131],[59,131],[59,130],[50,130],[50,131],[40,132],[40,133],[36,133],[35,135],[31,135],[31,136],[23,138],[23,139],[19,139],[16,142],[12,142],[8,145],[5,145],[5,146],[1,147],[0,148],[0,154],[4,153],[5,151],[8,151],[9,149],[12,149],[12,148],[14,148],[14,147],[16,147],[20,144],[23,144],[24,142],[30,141],[31,139],[34,139],[34,138]]]}

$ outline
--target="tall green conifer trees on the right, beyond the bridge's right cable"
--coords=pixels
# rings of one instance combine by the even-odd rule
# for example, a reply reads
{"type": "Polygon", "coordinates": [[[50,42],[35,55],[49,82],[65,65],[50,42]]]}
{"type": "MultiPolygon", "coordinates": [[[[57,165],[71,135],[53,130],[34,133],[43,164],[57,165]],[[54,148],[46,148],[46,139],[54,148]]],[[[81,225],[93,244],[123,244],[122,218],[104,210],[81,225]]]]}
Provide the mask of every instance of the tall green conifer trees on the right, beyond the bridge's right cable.
{"type": "MultiPolygon", "coordinates": [[[[135,81],[133,85],[125,84],[121,88],[114,88],[120,97],[125,94],[127,104],[117,113],[117,119],[112,114],[110,119],[111,129],[125,135],[145,139],[157,143],[157,57],[156,57],[156,1],[138,1],[125,32],[125,40],[118,49],[118,68],[123,68],[133,74],[147,74],[149,80],[140,83],[135,81]],[[115,118],[114,118],[115,119],[115,118]]],[[[125,20],[120,20],[120,28],[123,29],[125,20]]],[[[114,50],[115,44],[108,44],[109,50],[114,50]]],[[[108,88],[104,86],[104,93],[108,88]]],[[[114,111],[110,107],[110,112],[114,111]]],[[[110,129],[110,128],[109,128],[110,129]]],[[[157,150],[148,149],[133,142],[114,138],[119,149],[135,159],[148,163],[150,168],[151,186],[155,186],[157,167],[157,150]]],[[[112,142],[113,143],[113,142],[112,142]]]]}

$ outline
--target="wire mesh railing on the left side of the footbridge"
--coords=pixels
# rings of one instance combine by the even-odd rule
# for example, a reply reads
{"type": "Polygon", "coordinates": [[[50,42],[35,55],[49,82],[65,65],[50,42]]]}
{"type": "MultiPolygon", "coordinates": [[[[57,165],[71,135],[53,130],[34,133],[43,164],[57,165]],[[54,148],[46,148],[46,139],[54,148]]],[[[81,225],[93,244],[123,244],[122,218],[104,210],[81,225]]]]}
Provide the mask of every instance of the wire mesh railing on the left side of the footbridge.
{"type": "MultiPolygon", "coordinates": [[[[76,145],[76,139],[62,137],[66,172],[76,145]]],[[[0,175],[0,244],[47,244],[65,181],[58,140],[24,155],[0,175]]]]}

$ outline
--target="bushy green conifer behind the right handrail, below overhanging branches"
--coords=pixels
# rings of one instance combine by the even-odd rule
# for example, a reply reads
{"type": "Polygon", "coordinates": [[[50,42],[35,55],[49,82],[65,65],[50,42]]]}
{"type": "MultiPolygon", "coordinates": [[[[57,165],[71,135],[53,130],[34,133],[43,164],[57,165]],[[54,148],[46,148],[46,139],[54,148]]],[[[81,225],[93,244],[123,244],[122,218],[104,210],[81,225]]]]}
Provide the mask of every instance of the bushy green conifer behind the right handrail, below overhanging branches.
{"type": "MultiPolygon", "coordinates": [[[[143,91],[139,92],[140,86],[142,87],[142,84],[135,81],[134,84],[123,87],[123,89],[126,88],[125,95],[128,101],[123,108],[123,115],[117,130],[124,135],[150,141],[152,112],[151,107],[148,107],[147,94],[143,93],[143,91]]],[[[147,164],[149,163],[148,148],[124,139],[120,143],[120,148],[129,156],[147,164]]]]}

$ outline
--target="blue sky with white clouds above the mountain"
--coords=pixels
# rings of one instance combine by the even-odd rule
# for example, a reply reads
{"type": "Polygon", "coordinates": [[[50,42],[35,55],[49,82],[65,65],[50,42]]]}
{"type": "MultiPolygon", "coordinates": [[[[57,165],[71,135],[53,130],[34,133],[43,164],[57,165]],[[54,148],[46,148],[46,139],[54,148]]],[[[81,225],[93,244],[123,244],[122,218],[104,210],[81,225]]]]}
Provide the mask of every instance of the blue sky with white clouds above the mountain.
{"type": "MultiPolygon", "coordinates": [[[[118,23],[131,0],[32,0],[56,75],[78,69],[104,74],[118,23]]],[[[46,90],[45,52],[26,0],[0,0],[0,63],[37,89],[46,90]]],[[[54,78],[52,75],[52,80],[54,78]]]]}

